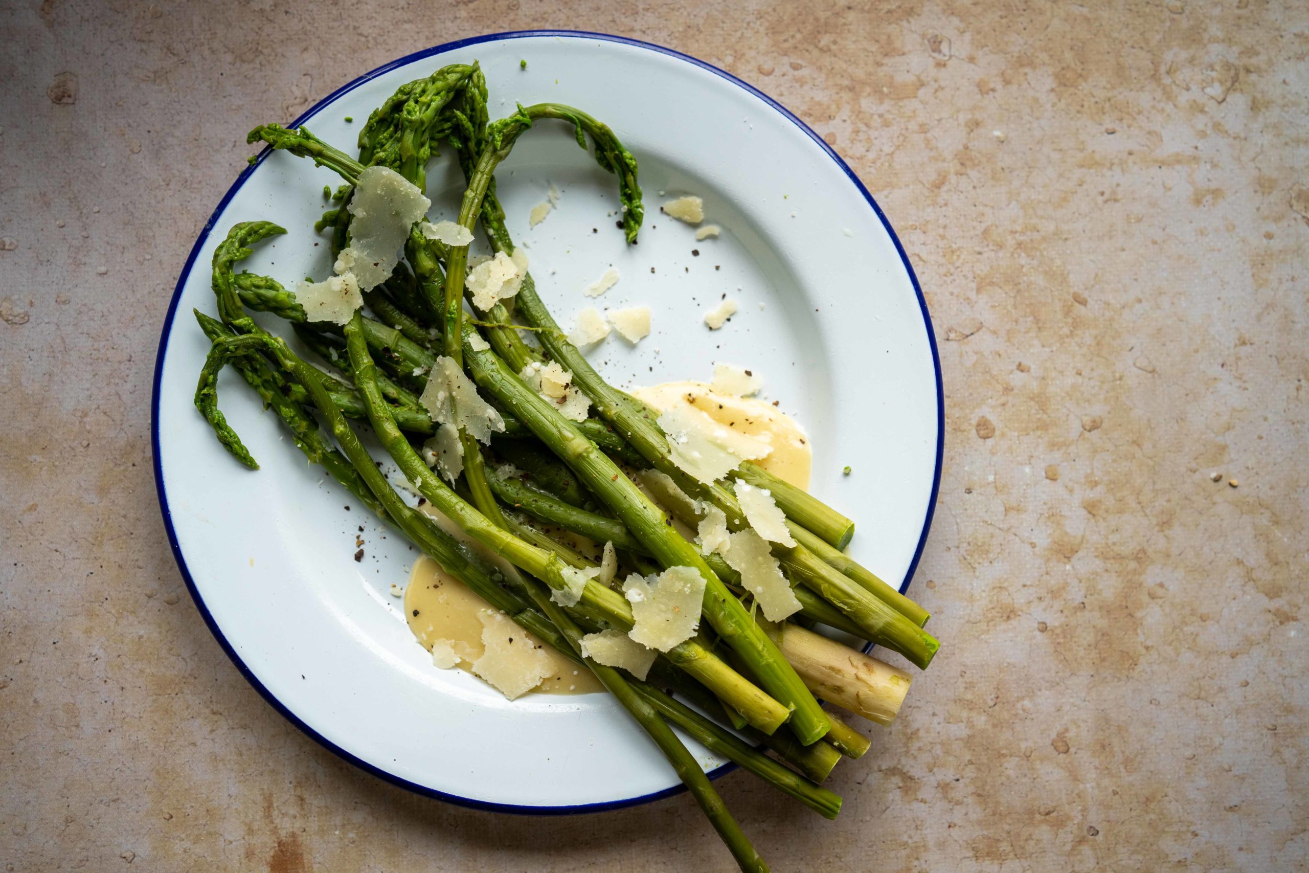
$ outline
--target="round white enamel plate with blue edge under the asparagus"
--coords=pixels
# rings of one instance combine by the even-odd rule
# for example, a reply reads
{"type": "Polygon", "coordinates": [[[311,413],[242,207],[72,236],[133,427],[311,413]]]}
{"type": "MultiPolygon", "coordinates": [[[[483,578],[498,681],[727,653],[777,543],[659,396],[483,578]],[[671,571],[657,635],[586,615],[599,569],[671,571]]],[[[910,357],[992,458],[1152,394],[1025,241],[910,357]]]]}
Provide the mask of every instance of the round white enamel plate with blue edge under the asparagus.
{"type": "MultiPolygon", "coordinates": [[[[940,474],[940,369],[908,259],[853,173],[804,123],[728,73],[600,34],[512,33],[424,51],[355,80],[296,123],[353,151],[363,122],[398,85],[473,60],[486,71],[492,118],[516,102],[571,103],[609,123],[640,162],[647,219],[636,246],[614,226],[614,178],[577,148],[568,126],[539,123],[497,173],[509,229],[529,246],[537,287],[562,325],[597,302],[653,310],[653,332],[639,346],[613,334],[590,353],[601,373],[628,386],[708,381],[715,361],[751,368],[766,399],[808,429],[812,490],[856,521],[852,554],[907,585],[940,474]],[[559,205],[529,229],[550,185],[559,205]],[[721,237],[696,242],[692,228],[660,213],[682,194],[704,198],[706,223],[721,226],[721,237]],[[600,301],[585,297],[583,288],[611,264],[619,283],[600,301]],[[724,296],[741,309],[711,332],[703,313],[724,296]]],[[[283,119],[249,126],[266,120],[283,119]]],[[[471,675],[433,668],[389,594],[408,579],[416,552],[360,507],[347,509],[350,495],[306,465],[230,370],[220,406],[260,470],[229,457],[192,406],[208,342],[191,309],[215,314],[215,246],[238,221],[271,220],[288,233],[260,243],[242,267],[288,287],[330,275],[313,223],[327,205],[323,185],[338,183],[309,161],[264,154],[213,212],[169,308],[154,382],[156,478],[196,606],[283,715],[414,791],[531,813],[678,791],[672,768],[607,695],[511,703],[471,675]],[[360,561],[356,534],[365,542],[360,561]]],[[[454,217],[462,178],[453,160],[433,160],[427,192],[433,220],[454,217]]],[[[288,334],[276,319],[264,323],[288,334]]],[[[707,771],[728,770],[691,747],[707,771]]]]}

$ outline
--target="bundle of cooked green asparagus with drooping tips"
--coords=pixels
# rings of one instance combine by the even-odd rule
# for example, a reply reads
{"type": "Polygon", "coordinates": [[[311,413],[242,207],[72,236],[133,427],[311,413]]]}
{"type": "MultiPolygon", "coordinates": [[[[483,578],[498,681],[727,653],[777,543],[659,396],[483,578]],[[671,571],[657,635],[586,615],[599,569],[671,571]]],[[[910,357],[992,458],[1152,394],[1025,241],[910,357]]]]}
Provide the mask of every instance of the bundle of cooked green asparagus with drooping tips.
{"type": "Polygon", "coordinates": [[[749,461],[721,479],[687,470],[658,414],[606,383],[559,329],[517,260],[495,182],[496,166],[517,139],[543,119],[572,124],[579,145],[585,149],[589,140],[597,162],[617,175],[622,226],[635,242],[643,219],[637,168],[613,131],[559,103],[518,106],[491,123],[486,80],[475,63],[401,86],[368,119],[357,157],[304,127],[251,131],[251,143],[312,158],[342,177],[339,205],[315,225],[330,236],[339,275],[291,292],[272,277],[237,272],[255,243],[284,230],[267,221],[233,226],[213,255],[219,318],[195,313],[212,340],[195,403],[221,444],[255,469],[217,407],[217,376],[233,366],[301,452],[356,500],[491,607],[592,670],[657,743],[741,868],[763,870],[669,725],[833,818],[840,798],[819,783],[843,755],[859,758],[869,742],[816,696],[889,724],[910,677],[813,628],[829,626],[885,645],[919,668],[931,662],[937,643],[922,630],[928,618],[922,607],[844,555],[853,522],[749,461]],[[454,152],[467,182],[457,225],[424,220],[424,169],[439,143],[454,152]],[[397,194],[382,203],[390,209],[390,237],[385,228],[378,232],[378,221],[386,220],[378,212],[386,209],[378,209],[377,198],[386,186],[397,194]],[[410,207],[412,215],[406,213],[410,207]],[[514,274],[516,296],[487,294],[487,284],[474,281],[469,243],[479,228],[496,253],[488,268],[499,264],[504,275],[514,274]],[[291,322],[327,368],[264,331],[247,309],[291,322]],[[526,343],[524,330],[539,344],[526,343]],[[593,415],[581,421],[565,416],[524,380],[531,365],[550,363],[571,374],[593,415]],[[432,509],[507,564],[482,560],[406,500],[352,420],[372,427],[432,509]],[[497,459],[513,462],[520,475],[496,472],[497,459]],[[771,496],[784,530],[754,531],[751,512],[742,508],[746,495],[758,499],[754,490],[771,496]],[[797,611],[764,620],[757,609],[764,592],[751,588],[721,550],[683,537],[673,518],[702,533],[706,525],[725,524],[723,537],[758,533],[763,559],[771,551],[797,611]],[[641,598],[624,597],[617,589],[620,573],[610,568],[606,575],[547,535],[541,522],[611,543],[618,563],[634,575],[627,588],[632,577],[657,581],[674,573],[690,590],[703,589],[707,627],[656,643],[658,658],[648,674],[614,666],[624,662],[588,643],[597,633],[635,633],[641,598]],[[789,767],[764,754],[764,746],[789,767]]]}

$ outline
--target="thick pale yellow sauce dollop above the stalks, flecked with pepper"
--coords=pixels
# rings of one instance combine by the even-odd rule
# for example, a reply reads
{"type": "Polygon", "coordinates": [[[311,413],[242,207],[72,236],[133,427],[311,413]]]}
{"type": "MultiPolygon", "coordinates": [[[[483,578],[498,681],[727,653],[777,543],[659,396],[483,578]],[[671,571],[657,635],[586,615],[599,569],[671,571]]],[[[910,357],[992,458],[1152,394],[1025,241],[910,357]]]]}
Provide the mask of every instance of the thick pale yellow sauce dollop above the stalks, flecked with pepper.
{"type": "Polygon", "coordinates": [[[809,487],[813,448],[809,437],[785,412],[764,401],[715,391],[706,382],[664,382],[628,391],[662,412],[675,403],[708,414],[719,424],[772,446],[757,465],[797,488],[809,487]]]}

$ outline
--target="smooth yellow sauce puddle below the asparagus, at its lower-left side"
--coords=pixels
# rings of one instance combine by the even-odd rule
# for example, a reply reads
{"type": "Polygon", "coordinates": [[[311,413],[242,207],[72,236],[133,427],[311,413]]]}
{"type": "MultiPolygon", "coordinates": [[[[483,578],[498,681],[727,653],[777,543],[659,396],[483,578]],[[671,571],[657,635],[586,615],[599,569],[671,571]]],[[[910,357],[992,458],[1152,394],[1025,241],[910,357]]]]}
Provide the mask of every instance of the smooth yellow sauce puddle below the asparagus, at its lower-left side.
{"type": "MultiPolygon", "coordinates": [[[[482,620],[478,618],[478,613],[484,609],[486,601],[441,569],[435,560],[423,555],[415,561],[404,588],[404,620],[423,648],[431,650],[437,640],[448,640],[461,658],[458,669],[473,673],[471,664],[486,650],[482,645],[482,620]]],[[[542,647],[550,660],[551,674],[534,691],[590,694],[605,690],[590,670],[573,664],[528,631],[522,635],[534,647],[542,647]]]]}

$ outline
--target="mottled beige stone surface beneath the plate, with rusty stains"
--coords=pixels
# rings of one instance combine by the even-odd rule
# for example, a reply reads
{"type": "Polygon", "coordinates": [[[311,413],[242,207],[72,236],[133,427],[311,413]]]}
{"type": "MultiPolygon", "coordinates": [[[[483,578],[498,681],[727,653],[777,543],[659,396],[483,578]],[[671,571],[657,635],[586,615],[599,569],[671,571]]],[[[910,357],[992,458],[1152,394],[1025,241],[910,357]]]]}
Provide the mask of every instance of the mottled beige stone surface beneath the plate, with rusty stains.
{"type": "Polygon", "coordinates": [[[529,26],[776,96],[932,308],[945,648],[839,821],[720,783],[774,869],[1306,869],[1309,10],[1266,0],[3,4],[4,869],[730,866],[685,796],[493,815],[319,749],[211,639],[154,501],[157,331],[245,131],[529,26]]]}

